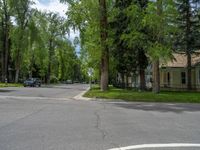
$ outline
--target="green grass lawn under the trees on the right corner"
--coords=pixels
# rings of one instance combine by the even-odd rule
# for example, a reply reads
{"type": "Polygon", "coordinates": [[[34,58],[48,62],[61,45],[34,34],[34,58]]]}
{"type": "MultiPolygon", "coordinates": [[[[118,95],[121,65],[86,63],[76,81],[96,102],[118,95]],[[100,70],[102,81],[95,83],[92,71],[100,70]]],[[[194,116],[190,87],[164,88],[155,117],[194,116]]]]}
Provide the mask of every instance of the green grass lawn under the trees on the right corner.
{"type": "Polygon", "coordinates": [[[152,92],[138,92],[113,87],[110,87],[106,92],[102,92],[100,88],[94,87],[84,96],[135,102],[200,103],[200,92],[161,92],[160,94],[154,94],[152,92]]]}

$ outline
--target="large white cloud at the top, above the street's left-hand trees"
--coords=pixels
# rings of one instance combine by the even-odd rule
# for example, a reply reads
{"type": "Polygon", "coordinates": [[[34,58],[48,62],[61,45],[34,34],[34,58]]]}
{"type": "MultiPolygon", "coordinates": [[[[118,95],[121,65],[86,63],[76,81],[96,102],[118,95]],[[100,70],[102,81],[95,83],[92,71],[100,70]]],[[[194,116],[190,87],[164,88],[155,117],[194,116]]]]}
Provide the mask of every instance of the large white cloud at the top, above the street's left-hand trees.
{"type": "Polygon", "coordinates": [[[67,4],[62,4],[59,0],[50,0],[49,3],[43,4],[39,0],[34,0],[35,4],[32,6],[41,11],[56,12],[62,17],[66,17],[65,13],[68,9],[67,4]]]}

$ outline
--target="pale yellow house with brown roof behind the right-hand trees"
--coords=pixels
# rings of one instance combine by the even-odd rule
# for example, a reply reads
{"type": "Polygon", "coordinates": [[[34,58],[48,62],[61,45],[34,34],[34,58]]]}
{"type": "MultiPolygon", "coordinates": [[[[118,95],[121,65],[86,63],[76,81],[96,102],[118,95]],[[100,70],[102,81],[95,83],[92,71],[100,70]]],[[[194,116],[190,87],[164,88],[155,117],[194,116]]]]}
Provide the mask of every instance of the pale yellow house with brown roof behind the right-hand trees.
{"type": "MultiPolygon", "coordinates": [[[[160,68],[160,85],[166,88],[187,88],[187,56],[174,53],[174,60],[160,68]]],[[[200,55],[192,54],[192,88],[200,89],[200,55]]]]}

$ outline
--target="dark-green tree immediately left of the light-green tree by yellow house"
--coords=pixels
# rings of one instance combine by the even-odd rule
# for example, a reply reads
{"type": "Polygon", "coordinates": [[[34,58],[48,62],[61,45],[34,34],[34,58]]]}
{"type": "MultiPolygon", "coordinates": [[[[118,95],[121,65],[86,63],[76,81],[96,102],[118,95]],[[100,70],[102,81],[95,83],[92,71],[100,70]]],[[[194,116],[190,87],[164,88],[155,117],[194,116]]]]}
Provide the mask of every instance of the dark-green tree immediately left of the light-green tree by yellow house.
{"type": "MultiPolygon", "coordinates": [[[[121,39],[128,43],[129,55],[134,61],[132,61],[132,68],[136,72],[138,70],[140,77],[140,90],[145,90],[145,68],[148,65],[146,57],[147,51],[147,39],[146,39],[146,27],[142,25],[143,18],[145,16],[146,7],[148,1],[130,1],[129,5],[125,8],[125,21],[126,28],[123,28],[124,33],[121,39]],[[131,3],[130,3],[131,2],[131,3]],[[127,20],[129,20],[127,22],[127,20]]],[[[128,3],[126,3],[128,4],[128,3]]]]}

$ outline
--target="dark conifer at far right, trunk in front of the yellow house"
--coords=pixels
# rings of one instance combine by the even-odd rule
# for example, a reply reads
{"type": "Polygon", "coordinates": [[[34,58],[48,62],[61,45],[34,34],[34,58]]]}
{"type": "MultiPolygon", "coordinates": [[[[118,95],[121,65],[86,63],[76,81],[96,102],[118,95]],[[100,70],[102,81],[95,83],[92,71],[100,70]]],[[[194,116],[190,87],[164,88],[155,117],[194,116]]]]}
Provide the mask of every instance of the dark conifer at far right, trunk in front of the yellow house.
{"type": "Polygon", "coordinates": [[[200,9],[198,0],[175,0],[179,16],[177,25],[180,29],[175,43],[176,48],[187,55],[187,88],[192,89],[192,58],[191,54],[200,48],[200,9]]]}

